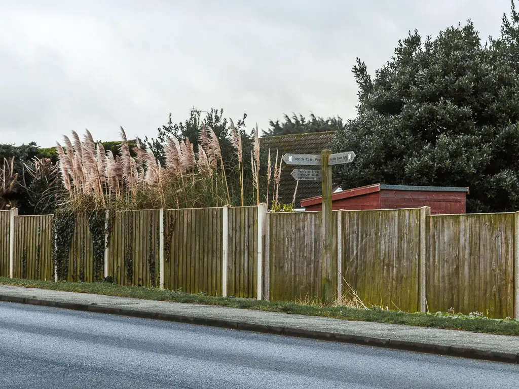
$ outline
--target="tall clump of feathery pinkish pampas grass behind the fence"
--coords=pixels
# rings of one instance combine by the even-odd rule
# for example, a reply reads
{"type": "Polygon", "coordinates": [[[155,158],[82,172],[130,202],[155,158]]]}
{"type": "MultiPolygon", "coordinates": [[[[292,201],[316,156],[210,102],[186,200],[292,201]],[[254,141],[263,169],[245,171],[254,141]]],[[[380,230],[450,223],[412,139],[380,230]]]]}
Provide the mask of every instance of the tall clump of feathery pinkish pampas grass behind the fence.
{"type": "MultiPolygon", "coordinates": [[[[241,134],[230,120],[232,144],[238,157],[238,177],[233,174],[233,181],[228,183],[218,138],[211,127],[203,123],[201,127],[196,153],[194,145],[187,138],[172,136],[168,139],[163,146],[164,165],[160,164],[151,149],[141,147],[139,142],[136,147],[130,147],[122,127],[118,152],[105,150],[101,143],[94,141],[88,130],[83,140],[75,132],[71,138],[64,136],[64,147],[60,143],[56,147],[61,179],[67,193],[61,205],[76,212],[208,207],[233,205],[233,200],[235,205],[245,205],[241,134]],[[231,193],[229,188],[237,188],[238,185],[239,190],[231,193]]],[[[253,130],[252,146],[252,184],[257,204],[260,201],[260,142],[257,126],[253,130]]],[[[271,180],[274,179],[275,186],[279,186],[280,169],[276,153],[272,177],[269,150],[267,201],[271,180]]],[[[247,199],[254,204],[249,194],[247,199]]]]}

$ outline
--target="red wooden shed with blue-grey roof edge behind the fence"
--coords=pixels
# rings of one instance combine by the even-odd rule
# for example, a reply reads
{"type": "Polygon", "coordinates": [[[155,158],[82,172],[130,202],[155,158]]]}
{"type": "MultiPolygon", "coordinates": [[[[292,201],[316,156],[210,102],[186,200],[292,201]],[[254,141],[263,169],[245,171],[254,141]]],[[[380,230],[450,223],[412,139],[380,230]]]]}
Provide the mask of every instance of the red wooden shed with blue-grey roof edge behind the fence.
{"type": "MultiPolygon", "coordinates": [[[[465,213],[469,188],[373,184],[333,193],[333,210],[387,210],[430,206],[431,214],[465,213]]],[[[320,211],[321,196],[301,200],[305,211],[320,211]]]]}

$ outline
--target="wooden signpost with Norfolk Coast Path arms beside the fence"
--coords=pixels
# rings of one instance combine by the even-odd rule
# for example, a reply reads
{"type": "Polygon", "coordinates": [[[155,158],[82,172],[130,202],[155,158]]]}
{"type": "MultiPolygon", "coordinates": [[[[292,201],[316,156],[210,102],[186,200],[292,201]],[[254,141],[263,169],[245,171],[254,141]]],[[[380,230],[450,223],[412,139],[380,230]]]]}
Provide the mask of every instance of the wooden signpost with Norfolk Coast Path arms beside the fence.
{"type": "MultiPolygon", "coordinates": [[[[322,192],[322,300],[331,303],[337,290],[337,262],[332,263],[332,165],[351,163],[355,158],[353,151],[332,154],[330,150],[321,151],[321,155],[284,154],[283,162],[289,165],[321,166],[321,171],[295,169],[292,176],[297,180],[321,180],[322,192]],[[320,174],[319,174],[320,173],[320,174]]],[[[340,296],[339,296],[340,297],[340,296]]]]}

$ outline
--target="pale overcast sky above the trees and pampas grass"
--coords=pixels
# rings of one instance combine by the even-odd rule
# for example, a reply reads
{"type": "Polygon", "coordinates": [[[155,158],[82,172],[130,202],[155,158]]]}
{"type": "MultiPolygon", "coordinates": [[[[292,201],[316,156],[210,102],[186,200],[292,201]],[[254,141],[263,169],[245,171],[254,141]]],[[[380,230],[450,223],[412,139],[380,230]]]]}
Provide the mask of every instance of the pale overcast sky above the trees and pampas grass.
{"type": "Polygon", "coordinates": [[[256,122],[355,116],[398,39],[472,19],[499,34],[509,0],[0,0],[0,143],[155,136],[197,107],[256,122]]]}

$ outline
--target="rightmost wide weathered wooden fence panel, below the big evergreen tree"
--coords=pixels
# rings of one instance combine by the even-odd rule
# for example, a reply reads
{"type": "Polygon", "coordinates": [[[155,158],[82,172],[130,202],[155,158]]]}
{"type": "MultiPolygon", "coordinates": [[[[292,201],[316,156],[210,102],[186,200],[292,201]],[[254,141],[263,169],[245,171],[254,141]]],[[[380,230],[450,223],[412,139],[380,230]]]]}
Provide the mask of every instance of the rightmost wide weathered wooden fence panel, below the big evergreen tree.
{"type": "Polygon", "coordinates": [[[430,312],[514,314],[514,214],[429,216],[430,312]]]}

